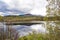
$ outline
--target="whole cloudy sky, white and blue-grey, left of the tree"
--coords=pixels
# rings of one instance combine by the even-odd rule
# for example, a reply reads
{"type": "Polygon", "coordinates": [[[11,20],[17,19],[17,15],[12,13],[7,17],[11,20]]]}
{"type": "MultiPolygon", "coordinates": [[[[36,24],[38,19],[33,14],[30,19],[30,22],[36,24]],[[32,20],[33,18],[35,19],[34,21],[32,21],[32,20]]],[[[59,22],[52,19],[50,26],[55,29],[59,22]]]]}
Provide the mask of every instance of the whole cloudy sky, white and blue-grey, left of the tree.
{"type": "Polygon", "coordinates": [[[0,0],[0,15],[46,15],[46,0],[0,0]]]}

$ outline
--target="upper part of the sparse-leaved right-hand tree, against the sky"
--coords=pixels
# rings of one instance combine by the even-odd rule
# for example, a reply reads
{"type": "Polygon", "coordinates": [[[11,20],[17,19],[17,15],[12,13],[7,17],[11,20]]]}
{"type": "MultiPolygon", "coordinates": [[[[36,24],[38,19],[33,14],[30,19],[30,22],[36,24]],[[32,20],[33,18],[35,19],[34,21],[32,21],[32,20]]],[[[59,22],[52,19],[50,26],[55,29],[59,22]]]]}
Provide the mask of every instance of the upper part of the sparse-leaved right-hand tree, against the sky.
{"type": "Polygon", "coordinates": [[[47,0],[47,16],[60,16],[60,0],[47,0]]]}

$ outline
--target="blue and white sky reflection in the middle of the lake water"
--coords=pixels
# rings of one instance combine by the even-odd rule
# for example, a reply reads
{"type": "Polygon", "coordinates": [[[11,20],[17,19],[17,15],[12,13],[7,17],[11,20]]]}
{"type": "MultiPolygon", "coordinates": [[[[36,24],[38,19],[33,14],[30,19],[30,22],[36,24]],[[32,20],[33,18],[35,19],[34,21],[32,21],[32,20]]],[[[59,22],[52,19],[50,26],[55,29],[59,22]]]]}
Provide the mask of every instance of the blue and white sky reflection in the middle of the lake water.
{"type": "Polygon", "coordinates": [[[31,25],[31,26],[13,25],[13,28],[19,31],[20,35],[27,35],[28,33],[32,33],[32,31],[42,32],[42,33],[46,32],[46,29],[40,24],[31,25]]]}

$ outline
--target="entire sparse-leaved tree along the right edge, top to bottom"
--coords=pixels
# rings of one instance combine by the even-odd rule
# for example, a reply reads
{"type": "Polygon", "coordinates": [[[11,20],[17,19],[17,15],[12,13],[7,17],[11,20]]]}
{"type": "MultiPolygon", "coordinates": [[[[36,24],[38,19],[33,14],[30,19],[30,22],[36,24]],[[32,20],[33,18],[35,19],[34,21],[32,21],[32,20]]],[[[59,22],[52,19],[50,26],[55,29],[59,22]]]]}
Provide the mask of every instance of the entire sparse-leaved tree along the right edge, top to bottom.
{"type": "MultiPolygon", "coordinates": [[[[47,16],[55,16],[54,20],[60,16],[60,0],[47,0],[47,16]]],[[[49,30],[49,40],[60,40],[60,21],[47,21],[49,30]]]]}

